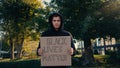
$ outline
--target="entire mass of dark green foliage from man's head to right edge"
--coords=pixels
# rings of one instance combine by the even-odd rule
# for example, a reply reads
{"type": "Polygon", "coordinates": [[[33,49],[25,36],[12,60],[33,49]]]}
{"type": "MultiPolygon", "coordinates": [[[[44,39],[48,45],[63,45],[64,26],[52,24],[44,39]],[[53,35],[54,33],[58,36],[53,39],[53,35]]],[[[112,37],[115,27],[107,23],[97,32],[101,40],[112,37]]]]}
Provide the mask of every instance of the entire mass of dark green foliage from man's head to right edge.
{"type": "Polygon", "coordinates": [[[65,29],[74,38],[119,38],[120,7],[116,6],[119,3],[117,0],[52,0],[49,6],[63,15],[65,29]]]}

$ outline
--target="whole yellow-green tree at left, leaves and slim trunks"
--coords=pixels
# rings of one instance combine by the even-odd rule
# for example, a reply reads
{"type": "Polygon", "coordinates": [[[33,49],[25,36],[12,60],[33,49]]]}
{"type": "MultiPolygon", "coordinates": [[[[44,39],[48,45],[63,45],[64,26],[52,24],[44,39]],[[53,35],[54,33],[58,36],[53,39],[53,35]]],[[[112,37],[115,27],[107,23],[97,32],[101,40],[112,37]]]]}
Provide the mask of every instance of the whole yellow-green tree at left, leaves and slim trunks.
{"type": "Polygon", "coordinates": [[[35,23],[31,22],[36,16],[35,10],[41,7],[38,0],[1,0],[2,28],[9,40],[11,59],[14,59],[14,46],[17,47],[17,58],[22,57],[24,39],[35,30],[35,23]]]}

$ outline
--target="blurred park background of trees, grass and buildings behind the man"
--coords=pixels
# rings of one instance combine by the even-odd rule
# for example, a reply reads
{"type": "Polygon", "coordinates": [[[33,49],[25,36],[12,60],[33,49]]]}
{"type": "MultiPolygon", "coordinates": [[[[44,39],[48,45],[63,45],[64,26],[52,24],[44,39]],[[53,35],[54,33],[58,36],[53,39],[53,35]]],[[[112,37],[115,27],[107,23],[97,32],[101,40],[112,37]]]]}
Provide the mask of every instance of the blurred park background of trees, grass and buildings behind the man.
{"type": "Polygon", "coordinates": [[[54,12],[73,35],[71,68],[119,67],[120,0],[0,0],[0,66],[39,68],[36,49],[54,12]]]}

